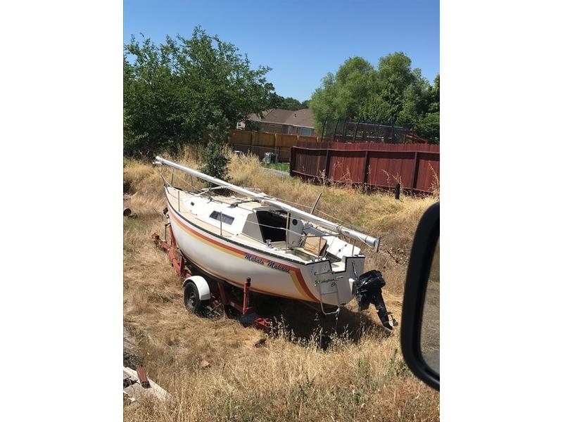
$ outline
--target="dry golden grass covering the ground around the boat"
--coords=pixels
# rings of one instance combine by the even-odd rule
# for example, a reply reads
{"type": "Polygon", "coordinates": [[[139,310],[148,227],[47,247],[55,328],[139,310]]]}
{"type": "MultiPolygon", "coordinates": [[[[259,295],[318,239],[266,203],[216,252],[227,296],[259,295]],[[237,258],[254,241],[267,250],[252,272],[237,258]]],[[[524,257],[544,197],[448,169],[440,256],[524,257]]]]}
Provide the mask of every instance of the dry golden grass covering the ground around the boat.
{"type": "MultiPolygon", "coordinates": [[[[177,160],[196,165],[187,153],[177,160]]],[[[396,201],[387,193],[306,184],[265,172],[255,158],[234,157],[230,175],[236,184],[308,206],[322,192],[320,211],[382,236],[383,252],[365,250],[366,270],[381,269],[388,282],[384,298],[400,319],[407,250],[419,217],[435,198],[396,201]]],[[[125,162],[124,182],[131,186],[125,206],[138,215],[123,221],[124,324],[149,376],[172,395],[165,403],[125,407],[125,421],[439,419],[438,393],[408,371],[398,331],[386,332],[373,307],[360,313],[349,305],[332,332],[330,317],[315,321],[303,305],[268,302],[271,314],[284,319],[270,336],[226,316],[186,312],[181,280],[150,240],[165,224],[160,177],[151,165],[131,161],[125,162]],[[329,344],[326,350],[318,347],[320,338],[329,344]],[[203,360],[210,366],[201,366],[203,360]]]]}

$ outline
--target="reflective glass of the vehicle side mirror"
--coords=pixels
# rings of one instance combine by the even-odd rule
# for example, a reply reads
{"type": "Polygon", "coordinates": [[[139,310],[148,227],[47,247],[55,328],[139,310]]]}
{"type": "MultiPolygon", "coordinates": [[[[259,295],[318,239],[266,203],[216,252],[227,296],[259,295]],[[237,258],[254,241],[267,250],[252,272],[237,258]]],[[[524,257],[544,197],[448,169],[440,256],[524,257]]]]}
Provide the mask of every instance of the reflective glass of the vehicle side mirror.
{"type": "Polygon", "coordinates": [[[430,369],[440,375],[440,240],[436,243],[434,258],[430,267],[422,327],[420,331],[422,359],[430,369]]]}

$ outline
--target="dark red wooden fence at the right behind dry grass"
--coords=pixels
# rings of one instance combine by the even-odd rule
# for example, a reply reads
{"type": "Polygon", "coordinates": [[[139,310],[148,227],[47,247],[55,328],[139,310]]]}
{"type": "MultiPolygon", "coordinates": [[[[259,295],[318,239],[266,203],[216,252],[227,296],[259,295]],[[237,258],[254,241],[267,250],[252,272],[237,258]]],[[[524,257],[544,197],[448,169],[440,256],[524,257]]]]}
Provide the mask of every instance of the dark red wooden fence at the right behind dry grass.
{"type": "Polygon", "coordinates": [[[291,176],[431,193],[440,181],[440,146],[421,143],[298,142],[291,176]]]}

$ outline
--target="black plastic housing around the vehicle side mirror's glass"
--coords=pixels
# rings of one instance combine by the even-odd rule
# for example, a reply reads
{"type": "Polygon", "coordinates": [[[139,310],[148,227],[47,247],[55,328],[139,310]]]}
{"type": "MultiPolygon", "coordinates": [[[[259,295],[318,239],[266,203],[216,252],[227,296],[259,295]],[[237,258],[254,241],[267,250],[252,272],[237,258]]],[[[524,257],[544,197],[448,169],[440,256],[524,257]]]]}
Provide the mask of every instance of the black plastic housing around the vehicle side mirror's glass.
{"type": "Polygon", "coordinates": [[[422,357],[421,330],[426,286],[439,236],[440,203],[435,203],[422,215],[412,242],[400,333],[401,350],[407,366],[415,376],[438,391],[440,375],[422,357]]]}

